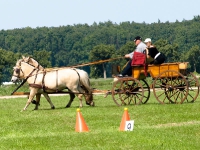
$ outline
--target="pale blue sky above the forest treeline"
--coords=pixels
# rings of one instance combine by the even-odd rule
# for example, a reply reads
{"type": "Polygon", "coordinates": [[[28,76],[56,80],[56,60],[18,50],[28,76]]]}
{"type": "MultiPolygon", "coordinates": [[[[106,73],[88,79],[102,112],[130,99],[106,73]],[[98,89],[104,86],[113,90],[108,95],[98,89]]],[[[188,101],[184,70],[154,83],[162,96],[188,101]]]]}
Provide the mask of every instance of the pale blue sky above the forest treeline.
{"type": "Polygon", "coordinates": [[[0,0],[0,30],[94,22],[191,20],[200,0],[0,0]]]}

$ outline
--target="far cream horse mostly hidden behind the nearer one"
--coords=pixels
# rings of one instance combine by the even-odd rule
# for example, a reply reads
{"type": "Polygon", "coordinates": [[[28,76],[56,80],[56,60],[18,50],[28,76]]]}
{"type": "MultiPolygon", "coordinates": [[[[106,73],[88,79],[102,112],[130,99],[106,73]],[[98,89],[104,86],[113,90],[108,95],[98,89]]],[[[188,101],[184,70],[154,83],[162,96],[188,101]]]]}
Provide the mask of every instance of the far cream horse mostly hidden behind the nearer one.
{"type": "MultiPolygon", "coordinates": [[[[62,68],[56,68],[56,69],[54,69],[54,68],[47,68],[47,69],[45,69],[43,66],[41,66],[38,63],[38,61],[36,61],[32,57],[24,57],[24,56],[22,56],[22,58],[23,58],[24,62],[26,62],[26,63],[28,63],[28,64],[36,67],[37,69],[39,69],[41,71],[44,71],[44,70],[45,71],[50,71],[50,70],[52,71],[52,70],[56,70],[56,69],[62,69],[62,68]]],[[[80,75],[80,81],[81,81],[81,83],[82,82],[86,82],[86,83],[84,83],[84,85],[89,85],[90,86],[90,80],[89,80],[89,76],[88,76],[87,72],[85,72],[84,70],[81,70],[81,69],[77,69],[77,68],[72,68],[72,69],[75,69],[78,72],[78,74],[80,75]],[[88,79],[88,80],[86,80],[86,79],[88,79]]],[[[85,88],[86,92],[87,92],[87,89],[90,88],[89,86],[87,88],[85,88]]],[[[88,97],[88,95],[85,95],[85,94],[76,94],[76,95],[77,95],[77,97],[80,100],[79,107],[83,107],[82,97],[84,96],[84,98],[86,100],[87,97],[88,97]]],[[[41,97],[41,94],[40,95],[39,94],[36,95],[36,102],[35,103],[40,103],[40,97],[41,97]]],[[[73,99],[74,97],[75,97],[74,94],[70,94],[70,98],[71,99],[73,99]]],[[[48,95],[46,95],[45,98],[47,99],[47,101],[49,101],[49,99],[50,99],[48,95]]],[[[86,101],[86,104],[90,105],[90,103],[88,103],[87,101],[86,101]]],[[[93,102],[93,106],[94,106],[94,102],[93,102]]],[[[66,107],[69,107],[69,106],[67,105],[66,107]]]]}

